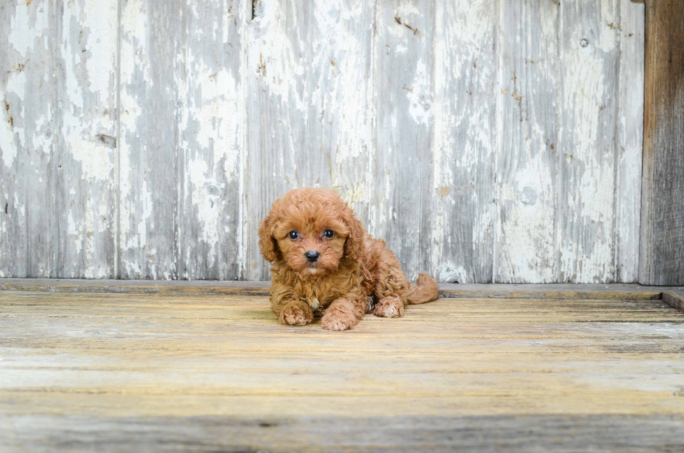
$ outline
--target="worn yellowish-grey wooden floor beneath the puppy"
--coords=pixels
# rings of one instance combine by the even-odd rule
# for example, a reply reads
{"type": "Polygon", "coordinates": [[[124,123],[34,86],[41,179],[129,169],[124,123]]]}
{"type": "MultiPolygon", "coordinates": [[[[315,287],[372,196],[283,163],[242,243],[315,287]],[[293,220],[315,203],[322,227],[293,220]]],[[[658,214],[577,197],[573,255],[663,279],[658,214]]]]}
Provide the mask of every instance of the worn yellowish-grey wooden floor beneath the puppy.
{"type": "Polygon", "coordinates": [[[59,450],[683,452],[684,314],[439,299],[336,333],[263,296],[0,291],[0,452],[59,450]]]}

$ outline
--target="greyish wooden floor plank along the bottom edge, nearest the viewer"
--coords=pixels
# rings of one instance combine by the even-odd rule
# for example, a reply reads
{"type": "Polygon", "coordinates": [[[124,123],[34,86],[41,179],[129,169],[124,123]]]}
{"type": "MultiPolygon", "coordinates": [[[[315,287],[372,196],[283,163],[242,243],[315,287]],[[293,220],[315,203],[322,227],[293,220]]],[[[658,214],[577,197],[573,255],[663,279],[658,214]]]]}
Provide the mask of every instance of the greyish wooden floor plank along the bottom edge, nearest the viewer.
{"type": "MultiPolygon", "coordinates": [[[[316,403],[314,403],[316,404],[316,403]]],[[[682,417],[494,415],[382,417],[0,417],[10,452],[671,452],[684,445],[682,417]],[[373,429],[369,429],[372,426],[373,429]],[[302,435],[302,431],[306,432],[302,435]],[[65,432],[72,433],[65,436],[65,432]],[[122,435],[123,434],[123,435],[122,435]],[[75,441],[75,439],[80,441],[75,441]],[[84,440],[87,439],[87,440],[84,440]],[[67,447],[64,447],[65,449],[67,447]],[[381,450],[382,449],[382,450],[381,450]]]]}

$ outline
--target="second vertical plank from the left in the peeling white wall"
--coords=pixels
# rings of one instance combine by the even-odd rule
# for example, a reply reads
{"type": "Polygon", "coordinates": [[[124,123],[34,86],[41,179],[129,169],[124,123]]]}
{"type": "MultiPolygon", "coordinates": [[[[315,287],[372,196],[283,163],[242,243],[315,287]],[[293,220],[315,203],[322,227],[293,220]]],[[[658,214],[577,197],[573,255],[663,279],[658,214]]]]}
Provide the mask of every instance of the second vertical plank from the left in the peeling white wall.
{"type": "Polygon", "coordinates": [[[57,1],[52,276],[114,276],[117,0],[57,1]]]}

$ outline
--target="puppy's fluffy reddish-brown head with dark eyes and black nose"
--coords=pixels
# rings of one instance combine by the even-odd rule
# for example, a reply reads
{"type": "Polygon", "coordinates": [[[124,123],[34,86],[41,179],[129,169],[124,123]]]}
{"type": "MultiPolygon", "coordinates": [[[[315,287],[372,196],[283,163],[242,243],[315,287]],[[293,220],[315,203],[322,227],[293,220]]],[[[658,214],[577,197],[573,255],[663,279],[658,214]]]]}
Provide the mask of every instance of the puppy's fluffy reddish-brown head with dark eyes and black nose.
{"type": "Polygon", "coordinates": [[[364,229],[340,196],[324,188],[297,188],[274,202],[259,228],[261,254],[299,274],[320,276],[340,260],[364,255],[364,229]]]}

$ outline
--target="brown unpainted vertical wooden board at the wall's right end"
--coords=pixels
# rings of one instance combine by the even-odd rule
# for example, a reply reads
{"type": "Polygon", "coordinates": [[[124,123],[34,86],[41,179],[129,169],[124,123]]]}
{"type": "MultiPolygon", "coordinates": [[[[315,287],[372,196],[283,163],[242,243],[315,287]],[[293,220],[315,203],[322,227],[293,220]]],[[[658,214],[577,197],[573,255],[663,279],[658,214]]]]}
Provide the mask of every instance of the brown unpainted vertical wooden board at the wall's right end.
{"type": "Polygon", "coordinates": [[[639,282],[684,283],[684,9],[646,2],[639,282]]]}

